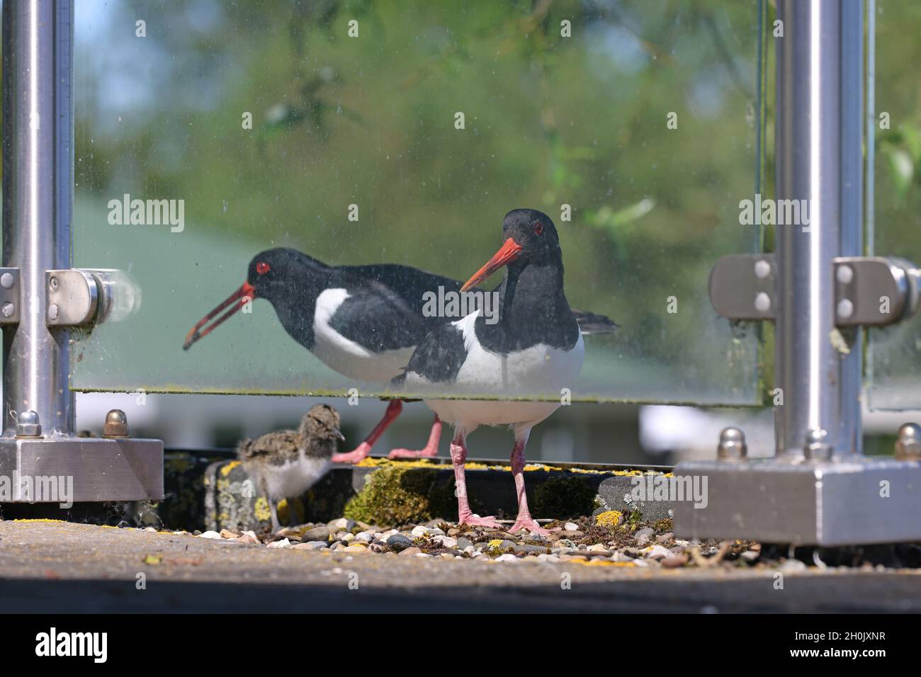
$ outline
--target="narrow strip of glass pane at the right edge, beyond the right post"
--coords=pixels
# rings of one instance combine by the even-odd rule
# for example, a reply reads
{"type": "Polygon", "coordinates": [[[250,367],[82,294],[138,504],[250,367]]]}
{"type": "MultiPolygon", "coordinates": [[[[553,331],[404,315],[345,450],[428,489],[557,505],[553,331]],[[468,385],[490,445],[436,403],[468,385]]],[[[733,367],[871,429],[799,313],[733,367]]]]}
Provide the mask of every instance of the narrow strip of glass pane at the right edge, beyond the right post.
{"type": "MultiPolygon", "coordinates": [[[[905,68],[921,58],[921,44],[904,40],[921,29],[921,6],[877,0],[875,208],[870,251],[921,263],[921,110],[917,77],[905,68]]],[[[869,193],[869,191],[868,191],[869,193]]],[[[868,394],[872,409],[921,409],[921,316],[870,333],[868,394]]]]}

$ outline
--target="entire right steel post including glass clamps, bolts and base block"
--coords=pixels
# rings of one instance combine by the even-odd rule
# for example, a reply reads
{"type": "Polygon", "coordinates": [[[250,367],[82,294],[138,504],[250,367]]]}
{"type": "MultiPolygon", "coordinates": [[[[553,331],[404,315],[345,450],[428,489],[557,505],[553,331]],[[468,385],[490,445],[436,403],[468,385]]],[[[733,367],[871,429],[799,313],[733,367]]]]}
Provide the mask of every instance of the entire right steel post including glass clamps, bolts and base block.
{"type": "Polygon", "coordinates": [[[865,457],[861,445],[863,327],[911,317],[919,287],[914,264],[863,256],[863,11],[862,0],[777,2],[777,212],[806,201],[809,222],[800,207],[799,224],[776,227],[775,254],[723,257],[710,276],[721,315],[776,322],[775,456],[732,453],[729,443],[741,449],[744,437],[727,429],[717,461],[680,463],[675,475],[707,493],[676,504],[682,536],[921,538],[916,427],[900,431],[894,459],[865,457]],[[898,309],[881,310],[880,295],[898,309]]]}

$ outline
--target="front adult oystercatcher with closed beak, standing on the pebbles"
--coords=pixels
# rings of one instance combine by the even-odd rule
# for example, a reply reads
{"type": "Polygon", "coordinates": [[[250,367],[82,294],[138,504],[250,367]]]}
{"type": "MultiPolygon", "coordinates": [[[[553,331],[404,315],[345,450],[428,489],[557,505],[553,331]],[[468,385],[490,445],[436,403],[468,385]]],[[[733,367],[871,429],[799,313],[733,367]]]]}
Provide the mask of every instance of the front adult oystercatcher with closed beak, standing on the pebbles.
{"type": "Polygon", "coordinates": [[[585,349],[563,291],[563,252],[553,220],[534,209],[515,209],[506,215],[502,232],[502,247],[463,286],[478,285],[505,266],[498,321],[489,324],[477,311],[442,325],[419,344],[396,381],[410,391],[551,398],[547,402],[426,399],[441,420],[454,426],[450,452],[459,523],[500,527],[493,517],[472,514],[464,461],[467,436],[473,430],[510,426],[515,434],[511,467],[519,511],[509,531],[547,534],[528,509],[524,449],[531,428],[553,414],[561,404],[561,390],[575,384],[585,349]]]}

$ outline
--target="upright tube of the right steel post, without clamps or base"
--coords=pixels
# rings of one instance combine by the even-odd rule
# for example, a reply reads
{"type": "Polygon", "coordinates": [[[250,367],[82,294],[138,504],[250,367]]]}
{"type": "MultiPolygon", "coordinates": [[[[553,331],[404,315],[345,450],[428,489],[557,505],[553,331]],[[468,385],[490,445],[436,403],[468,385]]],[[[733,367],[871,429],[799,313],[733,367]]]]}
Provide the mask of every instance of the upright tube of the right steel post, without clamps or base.
{"type": "Polygon", "coordinates": [[[776,198],[806,201],[809,215],[776,230],[778,456],[809,442],[813,457],[860,451],[861,344],[856,330],[841,351],[833,262],[863,253],[862,11],[861,0],[777,3],[776,198]]]}

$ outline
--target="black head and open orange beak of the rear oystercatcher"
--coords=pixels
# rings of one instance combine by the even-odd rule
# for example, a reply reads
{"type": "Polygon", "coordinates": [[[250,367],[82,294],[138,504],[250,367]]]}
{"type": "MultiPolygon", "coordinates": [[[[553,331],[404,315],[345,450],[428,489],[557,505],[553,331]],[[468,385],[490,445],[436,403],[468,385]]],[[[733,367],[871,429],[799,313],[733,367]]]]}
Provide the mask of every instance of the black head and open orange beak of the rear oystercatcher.
{"type": "Polygon", "coordinates": [[[188,350],[256,298],[265,298],[273,305],[282,299],[296,306],[305,305],[310,295],[316,298],[317,282],[324,269],[322,263],[297,250],[279,247],[261,251],[252,257],[246,282],[192,327],[182,348],[188,350]],[[223,315],[205,326],[225,309],[223,315]]]}

